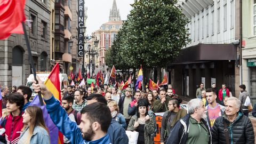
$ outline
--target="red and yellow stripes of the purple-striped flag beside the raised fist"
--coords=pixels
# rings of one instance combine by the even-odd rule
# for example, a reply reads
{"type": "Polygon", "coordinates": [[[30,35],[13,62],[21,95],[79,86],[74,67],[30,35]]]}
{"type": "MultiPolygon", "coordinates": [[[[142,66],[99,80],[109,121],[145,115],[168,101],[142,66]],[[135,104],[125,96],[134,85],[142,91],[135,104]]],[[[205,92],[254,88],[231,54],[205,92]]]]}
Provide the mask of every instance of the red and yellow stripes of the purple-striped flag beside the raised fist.
{"type": "MultiPolygon", "coordinates": [[[[61,97],[60,97],[60,77],[59,77],[59,63],[56,63],[54,68],[52,69],[50,75],[44,82],[45,86],[48,90],[51,91],[53,96],[58,99],[61,103],[61,97]]],[[[58,138],[58,144],[63,143],[63,134],[59,131],[59,138],[58,138]]]]}

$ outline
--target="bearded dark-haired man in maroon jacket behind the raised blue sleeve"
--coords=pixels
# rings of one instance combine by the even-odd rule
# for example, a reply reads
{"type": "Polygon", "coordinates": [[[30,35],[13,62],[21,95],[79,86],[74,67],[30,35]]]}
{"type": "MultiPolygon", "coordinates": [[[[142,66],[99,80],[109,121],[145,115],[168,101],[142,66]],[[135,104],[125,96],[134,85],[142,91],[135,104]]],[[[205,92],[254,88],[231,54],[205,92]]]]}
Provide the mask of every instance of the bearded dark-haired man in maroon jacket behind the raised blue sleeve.
{"type": "MultiPolygon", "coordinates": [[[[61,106],[67,111],[69,119],[73,122],[76,122],[76,124],[79,125],[81,123],[81,113],[72,108],[73,101],[74,99],[70,96],[63,97],[61,101],[61,106]]],[[[64,144],[71,143],[66,137],[63,138],[63,142],[64,144]]]]}

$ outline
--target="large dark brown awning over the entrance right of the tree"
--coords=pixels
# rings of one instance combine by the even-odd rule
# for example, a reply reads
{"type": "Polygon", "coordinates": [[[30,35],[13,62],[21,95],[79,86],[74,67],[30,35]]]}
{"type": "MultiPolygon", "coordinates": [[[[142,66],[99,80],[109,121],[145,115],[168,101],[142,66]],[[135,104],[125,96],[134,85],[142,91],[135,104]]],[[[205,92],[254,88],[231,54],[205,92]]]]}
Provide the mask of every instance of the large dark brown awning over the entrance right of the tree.
{"type": "Polygon", "coordinates": [[[191,62],[236,60],[236,46],[233,44],[198,44],[182,49],[172,64],[191,62]]]}

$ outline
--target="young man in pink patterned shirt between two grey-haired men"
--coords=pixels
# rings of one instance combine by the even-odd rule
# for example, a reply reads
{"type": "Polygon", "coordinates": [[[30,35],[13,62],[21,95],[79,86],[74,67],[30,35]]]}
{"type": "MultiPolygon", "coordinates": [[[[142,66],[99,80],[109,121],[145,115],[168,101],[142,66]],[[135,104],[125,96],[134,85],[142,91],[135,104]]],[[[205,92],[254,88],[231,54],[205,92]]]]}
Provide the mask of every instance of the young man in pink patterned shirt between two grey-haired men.
{"type": "Polygon", "coordinates": [[[224,114],[225,107],[217,103],[217,94],[216,91],[212,88],[206,90],[206,99],[209,103],[206,109],[207,122],[209,126],[212,127],[215,120],[224,114]]]}

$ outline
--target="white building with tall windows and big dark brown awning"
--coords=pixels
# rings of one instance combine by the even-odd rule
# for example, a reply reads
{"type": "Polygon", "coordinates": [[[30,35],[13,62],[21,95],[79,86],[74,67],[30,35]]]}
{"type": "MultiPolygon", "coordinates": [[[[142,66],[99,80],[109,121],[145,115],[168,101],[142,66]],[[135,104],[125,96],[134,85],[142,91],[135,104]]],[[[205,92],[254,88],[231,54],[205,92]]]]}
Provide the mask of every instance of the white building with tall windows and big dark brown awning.
{"type": "Polygon", "coordinates": [[[216,83],[217,90],[225,83],[238,97],[239,1],[187,0],[179,1],[179,7],[190,20],[191,42],[168,66],[174,89],[195,98],[201,82],[206,88],[216,83]]]}

